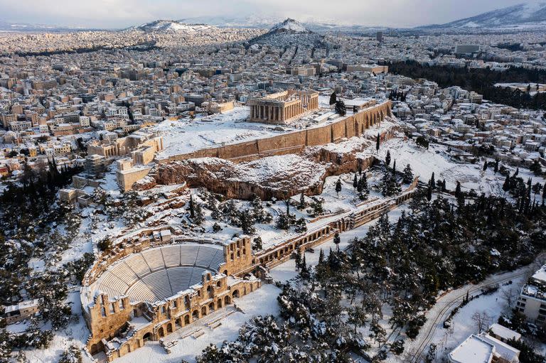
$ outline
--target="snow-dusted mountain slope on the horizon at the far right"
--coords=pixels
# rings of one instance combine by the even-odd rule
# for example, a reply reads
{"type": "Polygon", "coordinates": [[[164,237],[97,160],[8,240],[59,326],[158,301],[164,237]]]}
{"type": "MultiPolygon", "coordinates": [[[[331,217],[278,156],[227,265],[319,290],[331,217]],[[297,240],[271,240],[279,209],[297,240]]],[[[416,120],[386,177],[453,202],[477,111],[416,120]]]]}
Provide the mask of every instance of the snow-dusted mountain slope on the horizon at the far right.
{"type": "Polygon", "coordinates": [[[546,1],[530,1],[451,23],[422,28],[532,28],[546,26],[546,1]]]}

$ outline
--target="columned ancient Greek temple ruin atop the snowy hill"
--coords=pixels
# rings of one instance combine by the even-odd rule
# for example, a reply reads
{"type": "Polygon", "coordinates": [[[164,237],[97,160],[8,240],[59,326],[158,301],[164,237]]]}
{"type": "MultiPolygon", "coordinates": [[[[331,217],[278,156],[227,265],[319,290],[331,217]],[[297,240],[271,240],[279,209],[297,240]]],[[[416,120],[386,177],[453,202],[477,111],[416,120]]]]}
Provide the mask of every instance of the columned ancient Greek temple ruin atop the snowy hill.
{"type": "Polygon", "coordinates": [[[250,99],[250,121],[288,124],[304,112],[319,108],[319,92],[288,90],[250,99]]]}

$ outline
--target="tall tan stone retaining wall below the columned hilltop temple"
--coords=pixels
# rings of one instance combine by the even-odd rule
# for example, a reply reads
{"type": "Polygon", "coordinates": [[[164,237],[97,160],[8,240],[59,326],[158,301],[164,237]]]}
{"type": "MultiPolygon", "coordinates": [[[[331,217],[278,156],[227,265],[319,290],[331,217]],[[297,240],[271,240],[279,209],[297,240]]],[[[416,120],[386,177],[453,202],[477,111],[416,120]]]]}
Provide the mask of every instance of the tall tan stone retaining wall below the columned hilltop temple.
{"type": "Polygon", "coordinates": [[[234,143],[231,145],[203,148],[191,153],[181,153],[157,160],[158,163],[169,163],[191,158],[223,158],[230,161],[250,161],[265,156],[300,153],[306,146],[319,146],[340,141],[343,138],[360,136],[364,131],[386,116],[391,115],[390,101],[364,109],[340,121],[325,126],[289,132],[264,139],[234,143]]]}

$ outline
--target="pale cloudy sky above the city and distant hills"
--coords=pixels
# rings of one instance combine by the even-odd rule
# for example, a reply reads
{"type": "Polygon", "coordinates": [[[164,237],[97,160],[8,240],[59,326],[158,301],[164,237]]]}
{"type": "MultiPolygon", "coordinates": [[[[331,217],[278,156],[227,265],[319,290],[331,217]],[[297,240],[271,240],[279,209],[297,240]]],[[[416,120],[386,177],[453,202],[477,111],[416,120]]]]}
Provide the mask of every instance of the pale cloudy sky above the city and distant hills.
{"type": "Polygon", "coordinates": [[[525,0],[0,0],[0,20],[125,28],[156,19],[267,15],[364,26],[446,23],[525,0]]]}

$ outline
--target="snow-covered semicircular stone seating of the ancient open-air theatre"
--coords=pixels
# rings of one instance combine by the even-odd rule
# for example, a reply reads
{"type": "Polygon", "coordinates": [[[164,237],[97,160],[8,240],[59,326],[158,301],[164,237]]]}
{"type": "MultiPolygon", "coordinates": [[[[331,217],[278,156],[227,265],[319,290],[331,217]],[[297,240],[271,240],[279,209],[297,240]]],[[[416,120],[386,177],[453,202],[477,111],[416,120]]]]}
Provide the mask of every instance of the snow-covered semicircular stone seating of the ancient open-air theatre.
{"type": "Polygon", "coordinates": [[[202,282],[203,273],[218,272],[225,262],[222,246],[171,244],[146,249],[117,261],[102,273],[95,290],[132,301],[158,300],[202,282]]]}

